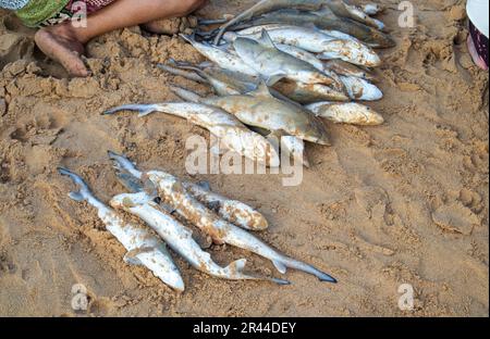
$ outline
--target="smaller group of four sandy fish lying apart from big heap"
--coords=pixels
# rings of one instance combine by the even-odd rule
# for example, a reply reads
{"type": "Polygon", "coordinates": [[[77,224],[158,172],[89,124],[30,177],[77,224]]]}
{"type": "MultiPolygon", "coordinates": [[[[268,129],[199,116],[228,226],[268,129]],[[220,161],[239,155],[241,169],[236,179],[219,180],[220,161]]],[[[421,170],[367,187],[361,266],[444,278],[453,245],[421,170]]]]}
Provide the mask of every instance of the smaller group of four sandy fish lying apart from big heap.
{"type": "Polygon", "coordinates": [[[253,208],[215,193],[205,185],[182,181],[162,171],[140,172],[128,159],[114,152],[109,152],[109,158],[114,162],[119,180],[130,193],[113,197],[109,206],[94,196],[78,175],[59,168],[60,174],[70,177],[78,188],[70,193],[70,198],[86,201],[97,210],[107,230],[127,250],[126,263],[147,267],[173,289],[183,291],[184,281],[167,246],[194,268],[218,278],[290,284],[284,279],[244,273],[245,259],[221,267],[201,249],[183,223],[199,228],[215,243],[228,243],[270,260],[282,274],[287,268],[295,268],[321,281],[336,282],[330,275],[281,254],[249,233],[268,228],[267,219],[253,208]],[[147,226],[126,221],[124,213],[139,217],[147,226]]]}

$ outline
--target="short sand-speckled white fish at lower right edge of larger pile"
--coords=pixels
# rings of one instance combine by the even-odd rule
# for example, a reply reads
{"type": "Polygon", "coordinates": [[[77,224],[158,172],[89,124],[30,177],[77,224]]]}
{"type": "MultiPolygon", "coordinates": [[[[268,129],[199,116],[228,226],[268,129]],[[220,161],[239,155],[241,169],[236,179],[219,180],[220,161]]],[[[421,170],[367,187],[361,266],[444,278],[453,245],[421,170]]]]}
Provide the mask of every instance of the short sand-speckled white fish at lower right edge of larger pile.
{"type": "Polygon", "coordinates": [[[317,116],[341,124],[376,126],[384,123],[383,117],[379,113],[368,106],[354,102],[317,102],[306,108],[317,116]]]}

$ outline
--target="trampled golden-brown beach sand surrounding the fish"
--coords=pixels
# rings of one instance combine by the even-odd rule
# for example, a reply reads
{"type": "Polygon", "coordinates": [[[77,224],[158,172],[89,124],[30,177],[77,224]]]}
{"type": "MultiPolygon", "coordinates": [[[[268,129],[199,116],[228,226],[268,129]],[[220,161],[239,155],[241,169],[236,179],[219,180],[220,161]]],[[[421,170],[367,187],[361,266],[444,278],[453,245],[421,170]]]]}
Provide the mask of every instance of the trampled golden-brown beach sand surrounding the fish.
{"type": "MultiPolygon", "coordinates": [[[[197,15],[252,2],[215,0],[197,15]]],[[[93,76],[71,79],[35,48],[33,30],[0,11],[0,316],[488,316],[488,73],[467,53],[465,1],[412,1],[413,28],[399,26],[399,1],[379,2],[396,47],[379,50],[384,98],[367,105],[385,124],[326,122],[332,146],[308,145],[311,167],[297,187],[283,187],[282,175],[189,176],[185,141],[209,138],[206,130],[164,114],[100,114],[176,100],[170,84],[209,95],[155,66],[204,61],[179,37],[107,34],[87,46],[93,76]],[[124,192],[107,150],[257,208],[270,223],[258,237],[339,284],[297,271],[284,287],[218,280],[175,256],[187,289],[172,291],[125,264],[96,212],[66,197],[73,186],[59,165],[102,201],[124,192]],[[87,289],[84,313],[72,309],[76,284],[87,289]],[[399,307],[404,284],[415,290],[412,311],[399,307]]],[[[280,276],[248,252],[209,252],[222,265],[247,258],[250,272],[280,276]]]]}

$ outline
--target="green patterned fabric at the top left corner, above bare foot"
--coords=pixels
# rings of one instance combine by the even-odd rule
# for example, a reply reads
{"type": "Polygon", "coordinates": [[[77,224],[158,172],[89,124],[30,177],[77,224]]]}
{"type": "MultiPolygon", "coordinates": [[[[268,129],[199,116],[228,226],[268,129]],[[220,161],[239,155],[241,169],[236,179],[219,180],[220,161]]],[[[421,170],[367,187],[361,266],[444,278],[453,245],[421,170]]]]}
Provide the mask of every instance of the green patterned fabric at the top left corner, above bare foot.
{"type": "Polygon", "coordinates": [[[30,0],[15,13],[24,25],[37,27],[61,12],[69,2],[70,0],[30,0]]]}

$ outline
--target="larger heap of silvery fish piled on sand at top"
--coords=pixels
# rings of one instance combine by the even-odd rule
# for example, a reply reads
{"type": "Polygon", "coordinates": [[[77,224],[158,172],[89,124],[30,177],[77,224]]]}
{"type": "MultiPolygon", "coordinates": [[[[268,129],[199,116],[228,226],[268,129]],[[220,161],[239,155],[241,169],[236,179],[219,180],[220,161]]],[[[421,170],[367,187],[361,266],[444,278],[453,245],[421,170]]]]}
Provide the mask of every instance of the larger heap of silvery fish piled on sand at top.
{"type": "Polygon", "coordinates": [[[383,96],[371,74],[381,64],[373,48],[394,41],[370,16],[379,11],[376,4],[358,8],[341,0],[262,0],[215,30],[203,27],[223,21],[200,21],[192,36],[181,36],[209,61],[170,60],[159,67],[211,86],[216,97],[172,86],[185,102],[130,104],[106,114],[181,116],[207,128],[226,149],[279,166],[280,152],[297,159],[304,141],[330,145],[322,118],[365,126],[384,122],[356,102],[383,96]]]}

